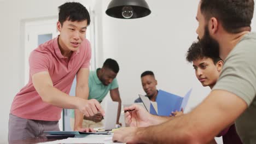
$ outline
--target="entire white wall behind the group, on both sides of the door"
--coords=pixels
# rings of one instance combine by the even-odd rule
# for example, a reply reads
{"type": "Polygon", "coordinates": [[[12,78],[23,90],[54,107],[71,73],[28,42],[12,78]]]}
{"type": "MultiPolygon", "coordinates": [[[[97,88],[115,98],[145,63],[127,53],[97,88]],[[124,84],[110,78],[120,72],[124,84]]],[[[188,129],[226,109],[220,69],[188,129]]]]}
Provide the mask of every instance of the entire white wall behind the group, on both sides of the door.
{"type": "MultiPolygon", "coordinates": [[[[57,16],[57,7],[63,2],[66,0],[0,1],[0,143],[7,143],[10,105],[14,95],[23,87],[21,20],[57,16]]],[[[83,1],[84,4],[96,5],[97,66],[101,67],[108,57],[116,59],[120,65],[118,81],[123,103],[132,103],[138,93],[144,93],[140,75],[145,70],[152,70],[160,89],[184,95],[193,87],[185,111],[199,104],[210,89],[201,86],[191,64],[185,61],[185,53],[197,37],[195,16],[199,0],[147,0],[152,14],[136,20],[107,16],[104,12],[109,2],[83,1]]],[[[252,26],[255,24],[254,19],[252,26]]]]}

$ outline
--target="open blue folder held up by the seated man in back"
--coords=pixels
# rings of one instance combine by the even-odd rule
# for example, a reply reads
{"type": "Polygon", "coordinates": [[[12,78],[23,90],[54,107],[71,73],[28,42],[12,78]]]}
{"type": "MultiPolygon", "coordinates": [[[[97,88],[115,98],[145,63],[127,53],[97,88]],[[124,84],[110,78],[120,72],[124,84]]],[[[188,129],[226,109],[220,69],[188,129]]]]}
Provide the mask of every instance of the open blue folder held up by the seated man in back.
{"type": "MultiPolygon", "coordinates": [[[[188,93],[184,97],[181,97],[176,94],[159,90],[158,97],[156,97],[156,103],[158,103],[158,115],[170,116],[172,111],[176,111],[176,110],[181,111],[182,108],[184,110],[188,104],[191,91],[192,91],[192,88],[188,91],[188,93]]],[[[151,106],[150,106],[150,110],[151,110],[151,106]]]]}

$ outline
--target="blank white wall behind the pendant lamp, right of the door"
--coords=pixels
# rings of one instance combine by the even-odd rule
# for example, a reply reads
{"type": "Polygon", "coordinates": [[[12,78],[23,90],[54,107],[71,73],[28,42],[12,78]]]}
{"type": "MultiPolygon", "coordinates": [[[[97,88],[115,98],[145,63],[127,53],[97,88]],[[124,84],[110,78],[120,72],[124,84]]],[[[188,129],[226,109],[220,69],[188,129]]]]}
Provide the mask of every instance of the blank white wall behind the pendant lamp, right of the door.
{"type": "MultiPolygon", "coordinates": [[[[106,9],[110,1],[104,1],[106,9]]],[[[209,92],[185,61],[185,53],[196,39],[195,20],[199,1],[148,0],[152,14],[141,19],[114,19],[103,11],[103,56],[117,59],[118,80],[123,103],[132,103],[142,93],[140,75],[152,70],[158,88],[178,95],[193,87],[188,109],[209,92]]]]}

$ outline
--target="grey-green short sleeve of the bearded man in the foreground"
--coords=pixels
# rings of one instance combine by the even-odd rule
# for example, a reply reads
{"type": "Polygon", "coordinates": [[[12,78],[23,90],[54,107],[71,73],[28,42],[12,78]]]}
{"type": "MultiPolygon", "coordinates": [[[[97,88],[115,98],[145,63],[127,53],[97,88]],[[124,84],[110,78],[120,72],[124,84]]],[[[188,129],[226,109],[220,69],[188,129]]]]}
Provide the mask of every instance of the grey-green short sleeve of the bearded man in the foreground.
{"type": "Polygon", "coordinates": [[[246,101],[247,106],[256,95],[255,45],[256,39],[245,36],[225,59],[222,73],[213,87],[236,94],[246,101]]]}

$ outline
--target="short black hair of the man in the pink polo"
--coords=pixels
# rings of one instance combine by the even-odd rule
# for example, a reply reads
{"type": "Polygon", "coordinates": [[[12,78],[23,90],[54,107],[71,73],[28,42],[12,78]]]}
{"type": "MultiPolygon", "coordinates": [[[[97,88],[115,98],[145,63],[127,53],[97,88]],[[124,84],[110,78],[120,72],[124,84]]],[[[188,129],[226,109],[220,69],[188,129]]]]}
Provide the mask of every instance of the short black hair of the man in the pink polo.
{"type": "Polygon", "coordinates": [[[59,7],[59,22],[61,26],[63,22],[68,21],[84,21],[87,20],[87,25],[90,25],[90,15],[84,5],[77,2],[67,2],[59,7]]]}

